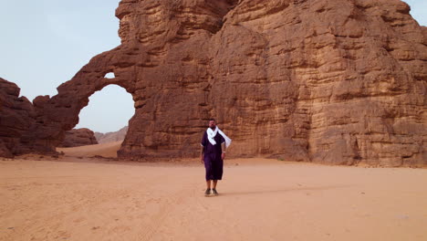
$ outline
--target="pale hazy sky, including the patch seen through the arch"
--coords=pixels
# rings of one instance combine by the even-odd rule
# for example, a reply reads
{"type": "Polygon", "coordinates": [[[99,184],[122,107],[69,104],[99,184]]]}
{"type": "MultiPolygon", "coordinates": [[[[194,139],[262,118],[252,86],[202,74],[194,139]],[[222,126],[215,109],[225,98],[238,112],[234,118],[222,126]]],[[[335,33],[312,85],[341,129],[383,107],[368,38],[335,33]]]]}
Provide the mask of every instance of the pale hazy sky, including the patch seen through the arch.
{"type": "MultiPolygon", "coordinates": [[[[120,0],[0,0],[0,77],[21,95],[54,96],[90,58],[120,45],[120,0]]],[[[427,0],[406,0],[411,16],[427,26],[427,0]]],[[[107,86],[89,98],[76,128],[118,131],[134,113],[129,93],[107,86]]]]}

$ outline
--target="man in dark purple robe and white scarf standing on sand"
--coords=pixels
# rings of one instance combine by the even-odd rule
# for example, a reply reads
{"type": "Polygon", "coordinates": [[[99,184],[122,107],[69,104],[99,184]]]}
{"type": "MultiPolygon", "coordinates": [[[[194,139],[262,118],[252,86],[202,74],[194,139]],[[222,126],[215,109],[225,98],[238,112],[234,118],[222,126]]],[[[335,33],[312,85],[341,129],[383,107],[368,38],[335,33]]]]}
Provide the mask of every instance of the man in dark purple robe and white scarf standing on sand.
{"type": "Polygon", "coordinates": [[[204,131],[201,142],[201,158],[206,170],[207,188],[206,192],[204,192],[205,196],[218,194],[216,192],[216,183],[223,178],[225,149],[230,144],[231,139],[216,126],[216,121],[214,119],[209,120],[209,128],[204,131]]]}

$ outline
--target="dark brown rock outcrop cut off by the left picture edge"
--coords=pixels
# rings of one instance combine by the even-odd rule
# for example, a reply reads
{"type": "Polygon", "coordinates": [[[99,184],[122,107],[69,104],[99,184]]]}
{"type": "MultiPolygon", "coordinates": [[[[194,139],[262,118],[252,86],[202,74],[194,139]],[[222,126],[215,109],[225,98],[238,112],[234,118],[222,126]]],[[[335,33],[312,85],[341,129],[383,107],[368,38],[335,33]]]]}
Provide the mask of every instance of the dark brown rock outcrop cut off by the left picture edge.
{"type": "Polygon", "coordinates": [[[0,78],[0,157],[14,157],[21,137],[35,124],[33,105],[19,92],[15,83],[0,78]]]}

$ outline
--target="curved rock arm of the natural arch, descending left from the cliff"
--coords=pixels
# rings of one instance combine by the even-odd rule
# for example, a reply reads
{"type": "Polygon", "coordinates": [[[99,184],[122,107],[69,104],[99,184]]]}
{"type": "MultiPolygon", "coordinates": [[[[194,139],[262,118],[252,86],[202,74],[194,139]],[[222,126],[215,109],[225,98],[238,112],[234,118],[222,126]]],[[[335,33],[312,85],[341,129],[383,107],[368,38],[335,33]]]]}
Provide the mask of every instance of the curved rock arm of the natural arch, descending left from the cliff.
{"type": "Polygon", "coordinates": [[[21,138],[24,143],[32,140],[24,152],[28,151],[25,149],[52,152],[58,141],[63,139],[64,131],[78,124],[78,114],[88,105],[89,97],[106,86],[120,86],[130,93],[133,100],[136,99],[132,85],[134,80],[118,73],[114,54],[113,49],[92,58],[72,79],[57,88],[57,95],[52,98],[39,96],[33,101],[36,123],[21,138]],[[105,77],[110,72],[114,73],[115,78],[105,77]]]}

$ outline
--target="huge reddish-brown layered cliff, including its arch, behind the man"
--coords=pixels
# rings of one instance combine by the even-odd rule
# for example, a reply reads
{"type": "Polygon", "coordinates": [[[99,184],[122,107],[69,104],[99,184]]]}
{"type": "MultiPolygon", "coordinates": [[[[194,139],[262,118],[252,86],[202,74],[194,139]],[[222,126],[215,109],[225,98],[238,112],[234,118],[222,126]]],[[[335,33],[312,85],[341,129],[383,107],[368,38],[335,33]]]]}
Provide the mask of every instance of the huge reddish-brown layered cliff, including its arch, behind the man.
{"type": "Polygon", "coordinates": [[[89,96],[126,89],[122,158],[192,157],[207,120],[233,156],[427,164],[427,29],[399,0],[123,0],[121,45],[35,100],[52,149],[89,96]],[[114,79],[105,74],[114,72],[114,79]]]}

